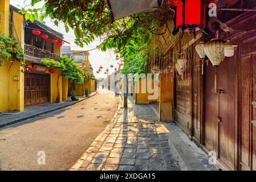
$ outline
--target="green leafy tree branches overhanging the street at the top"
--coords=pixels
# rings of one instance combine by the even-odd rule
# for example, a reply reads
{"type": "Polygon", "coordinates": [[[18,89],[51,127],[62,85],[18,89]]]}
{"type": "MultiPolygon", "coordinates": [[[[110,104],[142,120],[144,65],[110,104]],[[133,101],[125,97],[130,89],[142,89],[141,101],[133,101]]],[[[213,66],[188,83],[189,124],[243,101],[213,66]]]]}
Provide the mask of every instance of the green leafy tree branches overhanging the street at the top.
{"type": "MultiPolygon", "coordinates": [[[[31,5],[40,1],[31,0],[31,5]]],[[[67,32],[70,28],[74,30],[75,43],[80,47],[92,43],[95,37],[101,38],[103,42],[99,48],[102,51],[114,49],[124,61],[140,59],[141,56],[136,54],[147,46],[153,34],[164,34],[165,31],[159,32],[160,27],[166,30],[167,23],[173,19],[171,10],[159,9],[155,13],[136,14],[114,21],[107,0],[44,0],[43,7],[22,9],[21,13],[31,21],[35,17],[42,21],[48,16],[54,19],[56,26],[63,22],[67,32]]]]}

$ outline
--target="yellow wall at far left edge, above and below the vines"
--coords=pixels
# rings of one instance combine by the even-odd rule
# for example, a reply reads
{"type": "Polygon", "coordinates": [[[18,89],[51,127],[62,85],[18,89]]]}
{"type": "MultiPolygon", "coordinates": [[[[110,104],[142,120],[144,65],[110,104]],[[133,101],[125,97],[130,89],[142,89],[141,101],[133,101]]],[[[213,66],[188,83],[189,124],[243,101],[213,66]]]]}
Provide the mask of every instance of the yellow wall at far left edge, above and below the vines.
{"type": "MultiPolygon", "coordinates": [[[[6,36],[9,36],[9,8],[8,0],[0,1],[0,32],[6,36]]],[[[24,40],[22,23],[23,16],[14,12],[13,24],[15,24],[16,31],[13,31],[13,37],[19,42],[24,40]]],[[[24,73],[22,73],[22,69],[19,62],[15,60],[13,63],[6,60],[0,67],[0,112],[24,110],[24,73]],[[19,80],[14,81],[14,76],[19,77],[19,80]]]]}

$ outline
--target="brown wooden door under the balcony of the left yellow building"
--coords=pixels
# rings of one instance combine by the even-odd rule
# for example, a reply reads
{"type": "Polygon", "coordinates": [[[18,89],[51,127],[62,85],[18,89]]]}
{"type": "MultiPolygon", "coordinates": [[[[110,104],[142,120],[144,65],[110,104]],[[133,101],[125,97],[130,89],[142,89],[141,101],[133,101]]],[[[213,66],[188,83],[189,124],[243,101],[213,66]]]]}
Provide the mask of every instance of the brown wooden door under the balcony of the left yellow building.
{"type": "Polygon", "coordinates": [[[48,102],[50,76],[25,73],[25,106],[48,102]]]}

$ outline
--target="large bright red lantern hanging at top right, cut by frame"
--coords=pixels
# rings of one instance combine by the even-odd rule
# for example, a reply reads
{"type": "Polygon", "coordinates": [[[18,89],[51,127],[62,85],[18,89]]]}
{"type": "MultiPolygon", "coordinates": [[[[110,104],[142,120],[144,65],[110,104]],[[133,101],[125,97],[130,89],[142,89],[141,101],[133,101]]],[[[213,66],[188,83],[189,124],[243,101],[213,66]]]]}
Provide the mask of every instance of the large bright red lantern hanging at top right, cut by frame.
{"type": "MultiPolygon", "coordinates": [[[[176,30],[182,28],[184,31],[193,30],[194,28],[204,28],[206,19],[206,4],[201,0],[180,0],[176,7],[176,30]]],[[[174,33],[176,34],[176,33],[174,33]]]]}

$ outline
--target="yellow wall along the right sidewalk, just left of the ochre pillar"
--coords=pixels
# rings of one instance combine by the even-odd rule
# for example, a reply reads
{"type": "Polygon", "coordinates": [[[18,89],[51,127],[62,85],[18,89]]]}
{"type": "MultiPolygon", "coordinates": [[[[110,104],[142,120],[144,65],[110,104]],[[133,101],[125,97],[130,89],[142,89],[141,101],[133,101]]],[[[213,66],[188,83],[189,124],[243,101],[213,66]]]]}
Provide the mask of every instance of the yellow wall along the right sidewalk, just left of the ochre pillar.
{"type": "MultiPolygon", "coordinates": [[[[147,86],[147,81],[146,84],[147,86]]],[[[154,80],[152,80],[152,88],[154,85],[154,80]]],[[[141,90],[141,80],[136,82],[136,104],[149,104],[151,102],[158,102],[159,98],[157,98],[156,100],[148,100],[148,96],[151,94],[148,94],[148,91],[146,89],[146,93],[142,93],[141,90]]],[[[152,94],[153,95],[153,94],[152,94]]]]}

